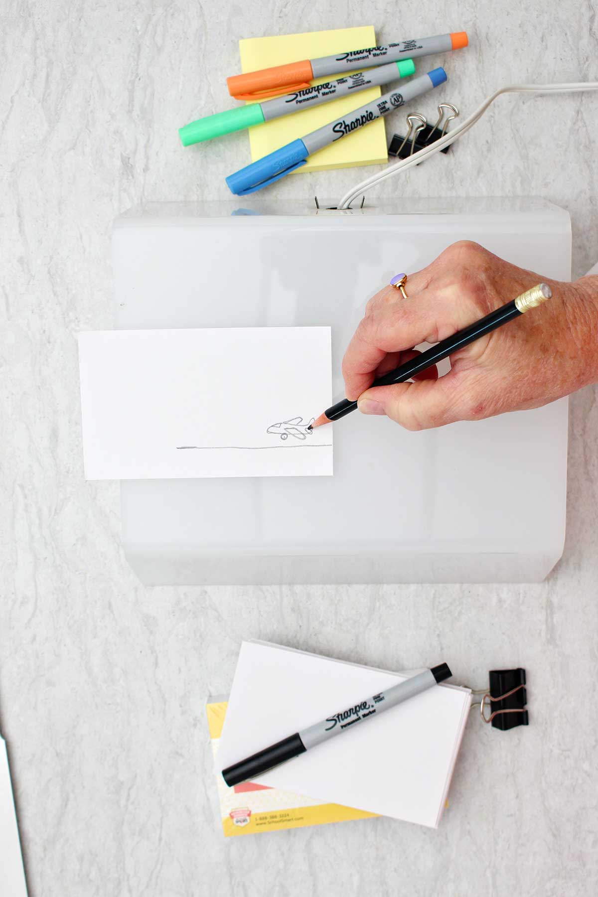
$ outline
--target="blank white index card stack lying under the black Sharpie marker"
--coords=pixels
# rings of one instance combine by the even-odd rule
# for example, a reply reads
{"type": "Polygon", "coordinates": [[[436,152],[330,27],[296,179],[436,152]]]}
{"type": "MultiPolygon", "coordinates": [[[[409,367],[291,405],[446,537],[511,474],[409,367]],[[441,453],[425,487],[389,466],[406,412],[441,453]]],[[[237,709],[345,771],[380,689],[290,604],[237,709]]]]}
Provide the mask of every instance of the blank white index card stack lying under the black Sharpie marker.
{"type": "MultiPolygon", "coordinates": [[[[408,675],[244,641],[218,771],[408,675]]],[[[432,685],[252,781],[436,828],[470,708],[469,689],[432,685]]]]}

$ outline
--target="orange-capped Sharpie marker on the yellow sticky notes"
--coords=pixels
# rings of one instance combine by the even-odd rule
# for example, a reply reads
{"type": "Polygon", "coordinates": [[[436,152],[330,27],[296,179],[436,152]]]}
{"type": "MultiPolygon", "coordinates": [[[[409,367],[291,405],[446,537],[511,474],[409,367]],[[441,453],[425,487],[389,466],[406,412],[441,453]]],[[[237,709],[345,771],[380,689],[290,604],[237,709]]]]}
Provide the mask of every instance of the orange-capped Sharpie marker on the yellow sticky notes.
{"type": "Polygon", "coordinates": [[[236,100],[260,100],[289,91],[303,90],[314,78],[325,78],[329,74],[353,72],[369,65],[398,62],[399,59],[431,56],[446,53],[467,46],[467,32],[453,31],[451,34],[437,34],[431,38],[402,40],[386,47],[370,47],[365,50],[349,50],[331,57],[302,59],[287,65],[274,65],[258,72],[233,74],[227,78],[230,96],[236,100]]]}

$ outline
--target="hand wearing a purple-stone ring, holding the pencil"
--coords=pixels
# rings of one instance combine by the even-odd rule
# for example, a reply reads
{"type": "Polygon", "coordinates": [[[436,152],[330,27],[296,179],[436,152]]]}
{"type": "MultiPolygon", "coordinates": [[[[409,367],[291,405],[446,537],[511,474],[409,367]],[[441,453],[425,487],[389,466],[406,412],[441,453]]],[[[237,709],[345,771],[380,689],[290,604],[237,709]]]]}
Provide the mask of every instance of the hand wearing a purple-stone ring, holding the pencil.
{"type": "Polygon", "coordinates": [[[561,283],[459,242],[409,274],[408,298],[387,286],[368,302],[342,361],[347,398],[407,430],[537,408],[598,381],[598,277],[561,283]],[[552,297],[451,355],[412,383],[368,387],[415,353],[513,300],[537,283],[552,297]]]}

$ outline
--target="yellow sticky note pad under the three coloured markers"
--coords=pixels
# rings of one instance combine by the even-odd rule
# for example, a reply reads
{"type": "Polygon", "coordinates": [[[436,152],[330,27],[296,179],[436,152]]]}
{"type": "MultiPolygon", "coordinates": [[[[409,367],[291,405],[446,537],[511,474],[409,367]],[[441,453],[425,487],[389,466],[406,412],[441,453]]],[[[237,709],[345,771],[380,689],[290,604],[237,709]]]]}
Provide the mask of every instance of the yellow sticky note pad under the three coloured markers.
{"type": "MultiPolygon", "coordinates": [[[[311,31],[308,34],[284,34],[276,38],[249,38],[239,40],[241,71],[256,72],[272,65],[284,65],[300,59],[316,59],[332,56],[345,50],[359,50],[376,46],[374,27],[342,28],[334,31],[311,31]]],[[[312,83],[321,84],[340,78],[331,75],[317,78],[312,83]]],[[[292,115],[276,118],[249,128],[249,146],[251,160],[261,159],[268,152],[278,150],[291,140],[309,134],[316,128],[341,118],[353,109],[365,106],[371,100],[381,96],[379,87],[371,87],[367,91],[354,93],[350,97],[342,97],[330,103],[323,103],[315,109],[304,109],[292,115]]],[[[360,127],[353,134],[342,137],[323,150],[309,156],[301,171],[324,171],[334,168],[350,168],[353,165],[377,165],[388,161],[386,152],[386,129],[383,118],[377,118],[371,124],[360,127]]]]}

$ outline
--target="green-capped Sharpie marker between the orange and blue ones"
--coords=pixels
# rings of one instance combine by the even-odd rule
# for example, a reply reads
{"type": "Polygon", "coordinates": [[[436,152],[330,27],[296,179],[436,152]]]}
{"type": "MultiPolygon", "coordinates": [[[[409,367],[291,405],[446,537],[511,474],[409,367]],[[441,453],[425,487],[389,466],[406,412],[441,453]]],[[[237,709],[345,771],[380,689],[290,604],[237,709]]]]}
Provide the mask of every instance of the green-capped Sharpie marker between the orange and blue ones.
{"type": "Polygon", "coordinates": [[[273,118],[282,118],[291,112],[300,112],[301,109],[312,109],[320,103],[330,100],[338,100],[350,93],[365,91],[368,87],[377,87],[397,78],[405,78],[415,71],[412,59],[400,59],[388,65],[378,65],[377,68],[369,68],[365,72],[348,74],[338,81],[327,81],[324,84],[314,84],[301,91],[287,93],[283,97],[274,97],[273,100],[265,100],[263,103],[250,103],[247,106],[239,106],[237,109],[227,109],[226,112],[217,112],[205,118],[198,118],[190,125],[178,130],[183,146],[199,144],[204,140],[212,140],[212,137],[221,137],[231,134],[233,131],[242,131],[246,127],[261,125],[264,121],[272,121],[273,118]]]}

